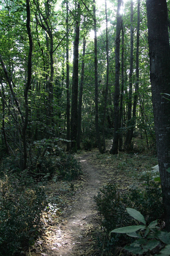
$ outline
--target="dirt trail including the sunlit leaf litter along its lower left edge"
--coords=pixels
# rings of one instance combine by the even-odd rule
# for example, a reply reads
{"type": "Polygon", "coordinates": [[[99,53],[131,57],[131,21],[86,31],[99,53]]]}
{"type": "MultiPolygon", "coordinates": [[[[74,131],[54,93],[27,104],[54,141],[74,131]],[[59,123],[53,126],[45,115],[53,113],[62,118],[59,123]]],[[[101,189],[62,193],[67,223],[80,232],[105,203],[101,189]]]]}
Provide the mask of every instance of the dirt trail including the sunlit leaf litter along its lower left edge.
{"type": "Polygon", "coordinates": [[[52,243],[47,239],[46,248],[43,248],[42,242],[42,246],[40,246],[43,249],[40,255],[94,256],[97,254],[97,250],[94,250],[93,247],[95,239],[92,237],[98,226],[94,195],[98,193],[102,185],[100,170],[90,164],[89,156],[91,154],[80,157],[84,172],[84,186],[73,196],[73,203],[67,207],[67,212],[64,213],[63,224],[59,223],[55,226],[56,228],[48,227],[52,243]]]}

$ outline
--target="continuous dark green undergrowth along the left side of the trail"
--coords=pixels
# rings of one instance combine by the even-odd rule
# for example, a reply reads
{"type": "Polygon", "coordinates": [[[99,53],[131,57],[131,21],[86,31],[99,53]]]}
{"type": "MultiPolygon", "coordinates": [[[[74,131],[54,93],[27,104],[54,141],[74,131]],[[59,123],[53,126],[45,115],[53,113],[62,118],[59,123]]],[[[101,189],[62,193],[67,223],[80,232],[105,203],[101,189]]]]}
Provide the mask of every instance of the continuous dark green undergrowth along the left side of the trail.
{"type": "MultiPolygon", "coordinates": [[[[17,167],[13,157],[4,159],[0,171],[0,256],[22,255],[42,233],[42,215],[53,208],[60,211],[59,195],[47,200],[47,181],[71,182],[80,175],[80,163],[70,154],[46,154],[25,171],[17,167]]],[[[63,193],[71,193],[73,184],[69,186],[63,193]]]]}

